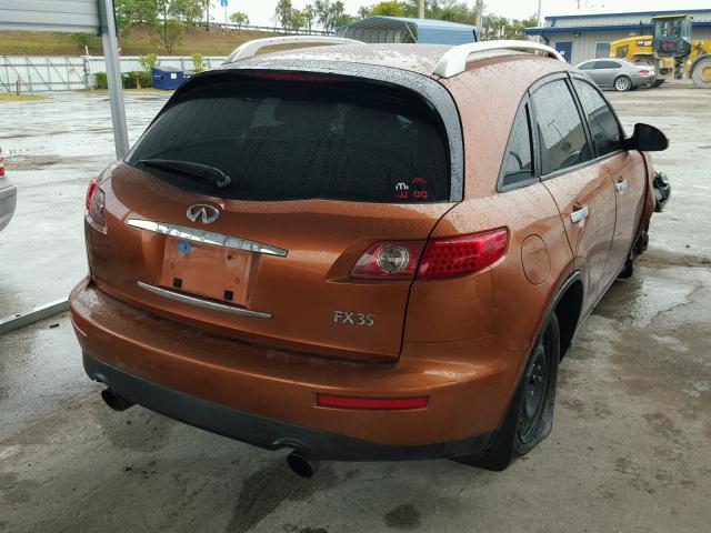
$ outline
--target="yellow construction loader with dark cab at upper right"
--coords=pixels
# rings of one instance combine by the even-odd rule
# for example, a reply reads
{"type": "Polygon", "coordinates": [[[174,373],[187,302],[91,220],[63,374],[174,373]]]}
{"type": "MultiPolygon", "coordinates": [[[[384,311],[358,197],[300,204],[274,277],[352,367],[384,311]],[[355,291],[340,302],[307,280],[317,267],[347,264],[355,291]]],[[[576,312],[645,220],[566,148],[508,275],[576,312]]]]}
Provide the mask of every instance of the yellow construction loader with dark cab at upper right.
{"type": "Polygon", "coordinates": [[[697,87],[711,89],[711,40],[692,40],[689,14],[652,17],[653,34],[610,43],[610,57],[653,67],[654,87],[667,79],[691,78],[697,87]]]}

